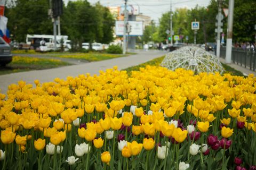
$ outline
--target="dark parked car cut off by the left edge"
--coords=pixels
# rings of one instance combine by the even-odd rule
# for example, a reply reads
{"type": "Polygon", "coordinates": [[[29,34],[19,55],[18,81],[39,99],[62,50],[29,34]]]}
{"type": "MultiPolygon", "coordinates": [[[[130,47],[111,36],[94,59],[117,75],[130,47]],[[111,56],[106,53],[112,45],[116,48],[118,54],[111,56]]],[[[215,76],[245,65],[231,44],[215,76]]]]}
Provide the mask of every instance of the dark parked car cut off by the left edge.
{"type": "Polygon", "coordinates": [[[12,62],[11,47],[0,37],[0,65],[5,66],[12,62]]]}

